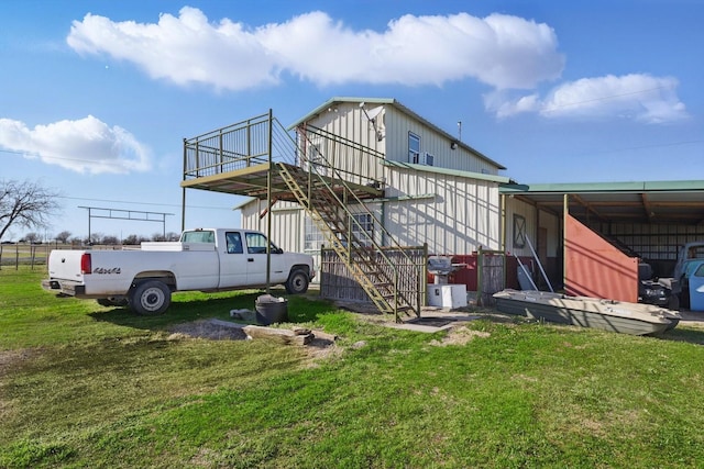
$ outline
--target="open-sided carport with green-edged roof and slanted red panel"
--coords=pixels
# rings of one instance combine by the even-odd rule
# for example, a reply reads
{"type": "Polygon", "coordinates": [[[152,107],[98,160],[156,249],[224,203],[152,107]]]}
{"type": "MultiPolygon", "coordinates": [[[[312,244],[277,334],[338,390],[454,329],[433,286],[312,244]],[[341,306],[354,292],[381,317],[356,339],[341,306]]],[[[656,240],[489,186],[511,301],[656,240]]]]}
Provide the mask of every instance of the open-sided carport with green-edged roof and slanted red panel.
{"type": "Polygon", "coordinates": [[[552,273],[570,294],[635,301],[640,259],[668,277],[680,246],[704,239],[704,180],[514,183],[499,191],[505,237],[514,235],[506,208],[522,206],[535,217],[529,225],[536,233],[528,235],[560,246],[552,273]],[[537,232],[548,217],[559,223],[541,238],[537,232]]]}

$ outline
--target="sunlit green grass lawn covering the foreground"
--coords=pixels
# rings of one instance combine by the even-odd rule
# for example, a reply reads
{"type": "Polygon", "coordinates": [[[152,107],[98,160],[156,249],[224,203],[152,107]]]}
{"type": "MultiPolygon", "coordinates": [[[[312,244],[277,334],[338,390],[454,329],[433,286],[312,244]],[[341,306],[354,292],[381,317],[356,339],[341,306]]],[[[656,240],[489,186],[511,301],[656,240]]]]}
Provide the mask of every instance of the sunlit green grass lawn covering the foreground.
{"type": "Polygon", "coordinates": [[[0,270],[2,468],[704,467],[704,330],[487,316],[422,334],[292,297],[293,322],[340,336],[316,358],[169,331],[257,292],[140,317],[56,298],[43,275],[0,270]]]}

